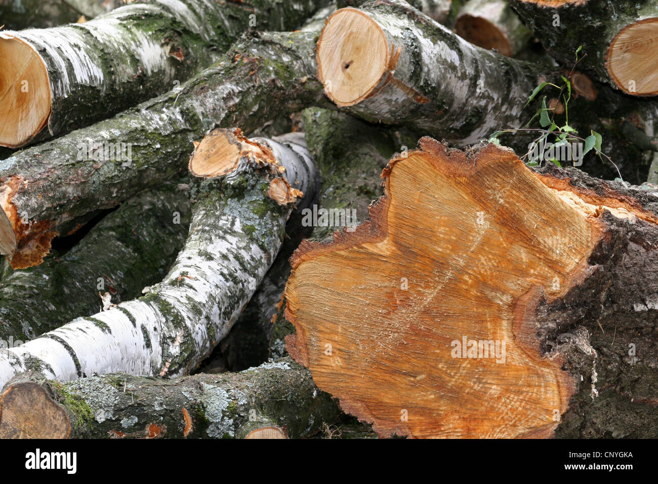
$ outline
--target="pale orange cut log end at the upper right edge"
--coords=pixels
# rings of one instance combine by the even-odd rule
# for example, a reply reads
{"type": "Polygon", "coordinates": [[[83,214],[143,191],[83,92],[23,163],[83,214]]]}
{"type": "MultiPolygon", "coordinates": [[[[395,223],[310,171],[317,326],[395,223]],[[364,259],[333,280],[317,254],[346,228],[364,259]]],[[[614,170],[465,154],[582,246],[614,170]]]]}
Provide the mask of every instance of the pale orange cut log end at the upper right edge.
{"type": "Polygon", "coordinates": [[[623,28],[610,43],[606,67],[617,87],[632,95],[658,95],[658,18],[623,28]]]}

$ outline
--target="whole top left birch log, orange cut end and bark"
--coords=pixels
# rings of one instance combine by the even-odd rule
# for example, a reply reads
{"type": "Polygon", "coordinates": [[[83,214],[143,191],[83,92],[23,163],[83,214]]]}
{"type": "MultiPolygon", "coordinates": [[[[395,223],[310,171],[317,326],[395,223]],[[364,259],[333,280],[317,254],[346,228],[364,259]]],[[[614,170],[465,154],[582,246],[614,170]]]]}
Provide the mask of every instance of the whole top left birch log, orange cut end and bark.
{"type": "Polygon", "coordinates": [[[180,86],[243,32],[291,30],[323,1],[151,0],[83,24],[1,32],[0,144],[111,117],[180,86]]]}

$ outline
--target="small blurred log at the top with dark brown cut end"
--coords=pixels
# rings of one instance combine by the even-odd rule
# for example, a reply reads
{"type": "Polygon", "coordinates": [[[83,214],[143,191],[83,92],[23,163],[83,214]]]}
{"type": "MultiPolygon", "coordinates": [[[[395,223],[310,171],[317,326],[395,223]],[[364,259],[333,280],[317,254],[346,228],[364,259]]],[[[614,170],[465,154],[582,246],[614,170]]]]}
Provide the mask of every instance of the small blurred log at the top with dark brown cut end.
{"type": "Polygon", "coordinates": [[[532,38],[507,0],[469,0],[457,14],[455,32],[470,43],[496,49],[507,57],[520,53],[532,38]]]}

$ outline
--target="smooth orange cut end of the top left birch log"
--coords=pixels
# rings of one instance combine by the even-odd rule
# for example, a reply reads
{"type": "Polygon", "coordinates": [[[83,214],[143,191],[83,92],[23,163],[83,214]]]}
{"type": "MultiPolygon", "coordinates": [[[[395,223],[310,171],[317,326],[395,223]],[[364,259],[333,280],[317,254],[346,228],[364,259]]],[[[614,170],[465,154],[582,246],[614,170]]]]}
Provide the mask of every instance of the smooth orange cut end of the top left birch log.
{"type": "Polygon", "coordinates": [[[24,146],[45,126],[50,111],[50,84],[41,57],[24,41],[0,35],[0,146],[24,146]]]}

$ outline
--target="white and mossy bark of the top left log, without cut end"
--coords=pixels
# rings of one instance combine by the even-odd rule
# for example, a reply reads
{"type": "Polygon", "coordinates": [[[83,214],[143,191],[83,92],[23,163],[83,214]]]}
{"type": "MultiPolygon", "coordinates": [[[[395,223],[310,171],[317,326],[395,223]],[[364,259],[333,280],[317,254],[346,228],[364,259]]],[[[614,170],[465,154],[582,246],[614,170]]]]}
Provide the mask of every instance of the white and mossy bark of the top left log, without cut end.
{"type": "Polygon", "coordinates": [[[48,126],[34,141],[107,119],[167,92],[211,65],[241,34],[292,30],[326,3],[151,0],[84,24],[18,32],[41,55],[51,84],[48,126]]]}

